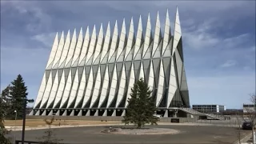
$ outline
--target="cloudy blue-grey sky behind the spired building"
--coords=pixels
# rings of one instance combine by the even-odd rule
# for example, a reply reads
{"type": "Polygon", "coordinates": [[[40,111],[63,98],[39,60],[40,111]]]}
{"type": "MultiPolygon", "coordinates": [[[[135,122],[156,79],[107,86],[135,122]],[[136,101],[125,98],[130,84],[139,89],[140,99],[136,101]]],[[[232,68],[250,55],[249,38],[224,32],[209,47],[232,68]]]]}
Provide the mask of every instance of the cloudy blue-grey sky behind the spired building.
{"type": "Polygon", "coordinates": [[[173,34],[176,6],[190,105],[241,109],[255,94],[255,1],[1,1],[1,90],[22,74],[36,98],[56,32],[106,32],[140,14],[145,28],[149,13],[154,27],[157,12],[163,30],[168,9],[173,34]]]}

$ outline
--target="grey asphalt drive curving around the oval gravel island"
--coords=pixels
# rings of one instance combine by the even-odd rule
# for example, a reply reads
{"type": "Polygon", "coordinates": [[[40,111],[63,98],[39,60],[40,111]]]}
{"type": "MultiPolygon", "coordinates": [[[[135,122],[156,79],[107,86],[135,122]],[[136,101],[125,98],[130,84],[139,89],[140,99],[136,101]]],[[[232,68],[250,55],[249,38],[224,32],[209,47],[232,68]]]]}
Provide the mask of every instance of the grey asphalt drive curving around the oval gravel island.
{"type": "MultiPolygon", "coordinates": [[[[151,126],[146,126],[151,127],[151,126]]],[[[221,126],[154,126],[180,130],[180,134],[127,135],[103,134],[105,126],[72,127],[56,129],[56,138],[70,144],[135,144],[135,143],[233,143],[238,140],[238,129],[221,126]]],[[[27,130],[26,141],[37,141],[45,130],[27,130]]],[[[16,132],[21,139],[21,131],[16,132]]],[[[241,136],[250,130],[241,130],[241,136]]]]}

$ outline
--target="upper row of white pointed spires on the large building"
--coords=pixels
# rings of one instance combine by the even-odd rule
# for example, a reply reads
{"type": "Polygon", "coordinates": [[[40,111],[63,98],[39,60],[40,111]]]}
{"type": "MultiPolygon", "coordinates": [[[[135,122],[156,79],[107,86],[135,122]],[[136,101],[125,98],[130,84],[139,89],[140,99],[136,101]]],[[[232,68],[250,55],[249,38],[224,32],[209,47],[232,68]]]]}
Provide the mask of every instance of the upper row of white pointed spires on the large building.
{"type": "MultiPolygon", "coordinates": [[[[178,7],[176,10],[176,18],[175,18],[175,26],[174,26],[174,35],[177,34],[178,32],[178,37],[181,37],[181,28],[180,28],[180,22],[179,22],[179,18],[178,18],[178,7]]],[[[97,34],[96,34],[96,28],[94,25],[94,29],[92,31],[92,34],[90,36],[89,34],[89,26],[87,26],[86,28],[86,34],[84,36],[84,44],[82,44],[82,28],[80,30],[80,33],[78,35],[78,39],[77,39],[77,35],[76,35],[76,29],[74,29],[74,34],[72,37],[72,40],[70,42],[70,30],[68,30],[67,36],[66,36],[66,41],[64,40],[64,31],[62,31],[62,35],[60,38],[60,41],[58,42],[58,33],[56,34],[56,37],[54,39],[54,46],[52,48],[52,51],[59,51],[60,49],[63,49],[63,52],[60,52],[64,55],[68,55],[67,53],[71,53],[71,51],[73,51],[74,53],[74,58],[73,58],[73,62],[72,65],[74,64],[76,58],[79,57],[80,58],[78,60],[78,63],[81,63],[82,60],[84,60],[83,58],[85,58],[85,62],[88,62],[90,57],[94,54],[94,58],[93,58],[93,62],[95,61],[95,58],[98,57],[98,54],[100,54],[102,52],[102,57],[100,59],[100,62],[102,62],[102,58],[104,58],[105,54],[107,53],[108,49],[109,49],[109,44],[110,44],[110,56],[108,58],[108,61],[110,60],[112,54],[114,54],[115,52],[115,48],[117,46],[115,46],[118,42],[118,25],[117,25],[117,21],[115,22],[114,25],[114,31],[112,34],[112,38],[111,38],[111,34],[110,34],[110,22],[108,22],[108,26],[107,26],[107,30],[106,30],[106,35],[104,38],[104,34],[103,34],[103,28],[102,28],[102,24],[100,26],[100,30],[98,33],[98,38],[97,38],[97,34]],[[110,43],[110,39],[111,39],[111,43],[110,43]],[[78,42],[77,45],[73,42],[78,42]],[[80,41],[79,41],[80,40],[80,41]],[[104,44],[102,44],[104,41],[104,44]],[[96,43],[97,42],[97,43],[96,43]],[[70,45],[71,43],[71,45],[70,45]],[[72,45],[73,43],[73,45],[72,45]],[[88,46],[85,46],[86,45],[88,46]],[[89,44],[90,43],[90,44],[89,44]],[[69,47],[70,46],[70,47],[69,47]],[[98,46],[102,46],[98,47],[98,46]],[[55,47],[55,48],[54,48],[55,47]],[[94,49],[95,48],[95,49],[94,49]],[[64,50],[66,49],[66,50],[64,50]],[[79,49],[79,50],[78,50],[79,49]],[[80,54],[80,49],[82,49],[82,52],[80,54]],[[69,51],[69,52],[68,52],[69,51]]],[[[168,45],[169,42],[169,37],[170,34],[170,19],[169,19],[169,12],[168,9],[166,11],[166,24],[165,24],[165,33],[164,33],[164,39],[163,39],[163,49],[166,48],[166,46],[168,45]]],[[[147,18],[147,24],[146,24],[146,34],[145,34],[145,38],[144,38],[144,49],[143,49],[143,54],[144,55],[146,53],[146,49],[148,48],[149,44],[150,44],[150,40],[153,38],[151,35],[151,23],[150,23],[150,14],[148,14],[148,18],[147,18]]],[[[117,56],[119,56],[122,53],[122,50],[125,46],[124,40],[127,38],[126,36],[126,24],[125,24],[125,19],[123,19],[122,22],[122,30],[121,30],[121,34],[120,34],[120,40],[118,43],[118,54],[117,56]]],[[[156,26],[155,26],[155,30],[154,30],[154,44],[153,44],[153,53],[154,51],[157,49],[158,46],[158,42],[161,38],[161,30],[160,30],[160,20],[159,20],[159,14],[157,14],[157,20],[156,20],[156,26]]],[[[176,38],[177,40],[179,38],[176,38]]],[[[128,33],[128,38],[127,38],[127,45],[126,45],[126,52],[125,52],[125,58],[127,57],[127,55],[129,54],[129,51],[131,50],[131,47],[133,46],[133,42],[134,42],[134,22],[133,22],[133,18],[131,18],[130,21],[130,30],[128,33]]],[[[142,39],[143,39],[143,34],[142,34],[142,18],[141,16],[139,17],[139,22],[138,22],[138,31],[137,31],[137,35],[136,35],[136,41],[135,41],[135,48],[134,48],[134,54],[137,54],[140,45],[142,43],[142,39]]],[[[175,37],[174,37],[175,40],[175,37]]],[[[174,45],[176,44],[177,46],[177,42],[174,42],[174,45]]],[[[174,48],[175,49],[175,48],[174,48]]],[[[62,51],[62,50],[61,50],[62,51]]],[[[164,50],[162,50],[162,52],[164,52],[164,50]]],[[[72,53],[72,54],[73,54],[72,53]]],[[[54,54],[54,53],[53,53],[54,54]]],[[[50,54],[51,55],[51,54],[50,54]]],[[[48,67],[50,65],[51,62],[53,62],[53,66],[56,65],[58,58],[55,58],[55,55],[50,56],[49,62],[47,63],[48,67]]],[[[60,58],[60,62],[63,62],[65,57],[57,54],[57,57],[61,57],[60,58]]],[[[70,62],[70,59],[72,57],[68,57],[66,62],[70,62]]],[[[60,65],[61,63],[59,63],[60,65]]]]}

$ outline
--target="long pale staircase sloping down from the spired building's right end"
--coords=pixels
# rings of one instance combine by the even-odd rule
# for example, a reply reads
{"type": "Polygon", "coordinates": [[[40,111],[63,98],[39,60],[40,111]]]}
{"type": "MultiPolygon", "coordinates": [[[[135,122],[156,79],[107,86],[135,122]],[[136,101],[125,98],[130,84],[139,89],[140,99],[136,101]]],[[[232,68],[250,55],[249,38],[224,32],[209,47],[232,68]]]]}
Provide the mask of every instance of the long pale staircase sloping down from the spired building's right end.
{"type": "Polygon", "coordinates": [[[207,117],[218,119],[218,120],[225,120],[225,118],[223,116],[218,115],[218,114],[204,114],[204,113],[201,113],[201,112],[199,112],[197,110],[193,110],[193,109],[186,108],[186,107],[180,107],[178,109],[182,110],[182,111],[185,111],[188,114],[203,115],[203,116],[207,116],[207,117]]]}

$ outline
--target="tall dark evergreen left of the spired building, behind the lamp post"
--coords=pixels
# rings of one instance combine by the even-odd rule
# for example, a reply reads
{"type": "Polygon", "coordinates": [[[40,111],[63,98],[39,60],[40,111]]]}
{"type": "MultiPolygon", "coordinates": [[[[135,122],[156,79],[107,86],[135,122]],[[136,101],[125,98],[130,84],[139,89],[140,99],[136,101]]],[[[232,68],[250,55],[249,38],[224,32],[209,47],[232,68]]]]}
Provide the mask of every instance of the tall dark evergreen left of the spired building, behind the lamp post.
{"type": "Polygon", "coordinates": [[[17,118],[22,118],[23,113],[23,105],[24,98],[26,98],[26,86],[25,82],[23,82],[23,78],[21,74],[18,74],[18,77],[11,82],[12,86],[10,86],[10,102],[11,102],[11,111],[8,114],[10,118],[14,119],[15,114],[14,110],[17,110],[17,118]]]}

